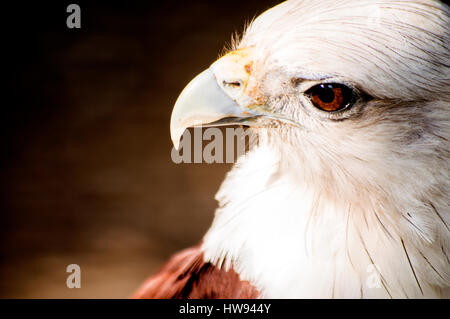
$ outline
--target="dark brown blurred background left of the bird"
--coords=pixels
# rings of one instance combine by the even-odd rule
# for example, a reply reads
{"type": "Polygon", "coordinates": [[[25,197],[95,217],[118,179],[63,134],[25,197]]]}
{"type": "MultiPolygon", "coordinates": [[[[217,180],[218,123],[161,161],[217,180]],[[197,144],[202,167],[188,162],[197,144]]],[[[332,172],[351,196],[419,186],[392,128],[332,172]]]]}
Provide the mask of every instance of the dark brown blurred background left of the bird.
{"type": "Polygon", "coordinates": [[[231,166],[172,163],[172,106],[277,2],[2,4],[0,297],[128,297],[202,238],[231,166]]]}

